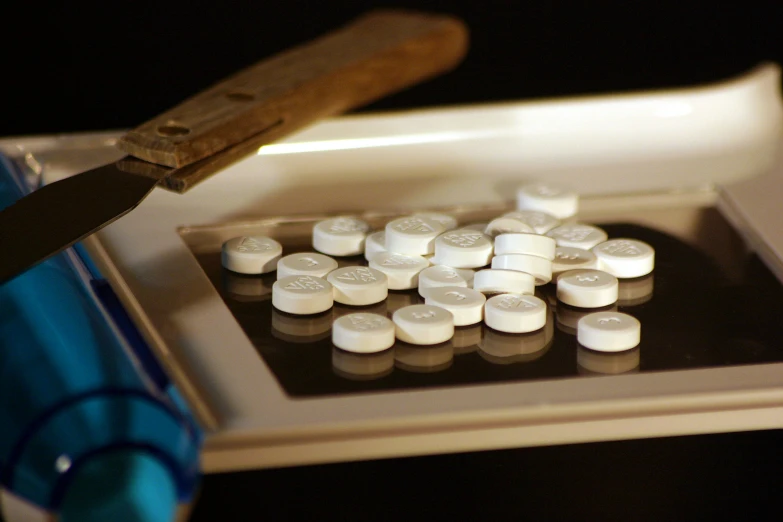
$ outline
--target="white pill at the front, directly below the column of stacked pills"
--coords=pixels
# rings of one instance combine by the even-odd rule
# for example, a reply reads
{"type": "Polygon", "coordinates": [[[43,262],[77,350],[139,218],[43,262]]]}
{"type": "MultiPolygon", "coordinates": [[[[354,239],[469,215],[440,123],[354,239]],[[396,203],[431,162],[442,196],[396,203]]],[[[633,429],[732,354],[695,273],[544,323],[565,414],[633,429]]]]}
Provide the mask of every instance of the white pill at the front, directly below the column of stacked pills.
{"type": "Polygon", "coordinates": [[[534,295],[496,295],[484,306],[484,322],[499,332],[534,332],[544,327],[547,315],[546,303],[534,295]]]}

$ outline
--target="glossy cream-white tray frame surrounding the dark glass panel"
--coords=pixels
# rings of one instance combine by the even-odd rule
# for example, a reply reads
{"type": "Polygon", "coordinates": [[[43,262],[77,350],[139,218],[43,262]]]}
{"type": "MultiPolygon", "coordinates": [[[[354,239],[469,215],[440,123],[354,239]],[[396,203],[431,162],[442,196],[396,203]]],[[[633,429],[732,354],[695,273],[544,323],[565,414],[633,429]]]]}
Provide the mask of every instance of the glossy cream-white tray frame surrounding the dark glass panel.
{"type": "MultiPolygon", "coordinates": [[[[765,65],[704,88],[337,118],[184,196],[154,191],[87,244],[208,430],[207,472],[779,428],[778,363],[292,399],[183,239],[208,246],[271,216],[500,209],[544,178],[585,195],[585,220],[654,223],[705,248],[693,234],[717,205],[780,277],[779,82],[765,65]]],[[[51,182],[115,154],[73,145],[91,139],[0,147],[51,182]]]]}

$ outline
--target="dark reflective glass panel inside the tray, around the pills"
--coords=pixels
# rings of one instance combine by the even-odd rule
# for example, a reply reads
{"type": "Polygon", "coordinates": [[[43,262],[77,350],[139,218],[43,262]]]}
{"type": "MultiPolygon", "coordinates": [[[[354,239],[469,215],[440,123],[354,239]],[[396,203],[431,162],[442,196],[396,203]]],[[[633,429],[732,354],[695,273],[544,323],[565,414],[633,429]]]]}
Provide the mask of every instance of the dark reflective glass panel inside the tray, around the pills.
{"type": "MultiPolygon", "coordinates": [[[[651,276],[622,281],[616,310],[641,321],[642,341],[615,355],[578,346],[576,321],[590,311],[554,304],[552,284],[539,287],[550,302],[545,330],[510,335],[486,326],[463,327],[452,341],[434,347],[398,342],[381,354],[348,354],[331,343],[334,318],[357,310],[391,315],[403,304],[423,302],[418,293],[390,292],[379,305],[336,304],[316,316],[293,316],[272,306],[274,273],[242,276],[223,269],[219,253],[196,257],[292,397],[783,361],[783,287],[757,257],[738,253],[739,270],[729,273],[711,255],[661,231],[622,223],[602,228],[609,237],[640,239],[656,251],[651,276]]],[[[284,249],[286,254],[310,250],[305,243],[284,244],[284,249]]],[[[341,264],[365,262],[357,257],[341,264]]]]}

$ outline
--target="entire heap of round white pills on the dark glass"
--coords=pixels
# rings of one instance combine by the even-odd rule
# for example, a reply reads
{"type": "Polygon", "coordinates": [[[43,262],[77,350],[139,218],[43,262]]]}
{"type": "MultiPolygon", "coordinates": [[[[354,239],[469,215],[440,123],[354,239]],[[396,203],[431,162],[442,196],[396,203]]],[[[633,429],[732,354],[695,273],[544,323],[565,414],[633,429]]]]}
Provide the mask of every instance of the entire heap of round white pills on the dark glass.
{"type": "Polygon", "coordinates": [[[519,188],[516,211],[488,223],[460,226],[453,216],[430,212],[372,231],[365,221],[342,216],[315,224],[314,252],[283,256],[274,239],[238,237],[223,244],[222,261],[241,274],[277,270],[272,304],[289,314],[318,314],[334,303],[367,307],[385,301],[390,290],[415,289],[424,298],[395,307],[391,319],[366,309],[340,315],[332,342],[352,353],[381,352],[396,341],[438,345],[455,328],[482,322],[505,334],[540,331],[550,314],[535,293],[547,284],[555,285],[563,323],[575,323],[582,347],[630,350],[640,342],[641,325],[615,310],[622,297],[639,297],[625,296],[621,283],[646,288],[634,283],[653,271],[655,252],[579,222],[578,207],[575,192],[534,183],[519,188]],[[339,268],[333,259],[362,254],[368,266],[339,268]]]}

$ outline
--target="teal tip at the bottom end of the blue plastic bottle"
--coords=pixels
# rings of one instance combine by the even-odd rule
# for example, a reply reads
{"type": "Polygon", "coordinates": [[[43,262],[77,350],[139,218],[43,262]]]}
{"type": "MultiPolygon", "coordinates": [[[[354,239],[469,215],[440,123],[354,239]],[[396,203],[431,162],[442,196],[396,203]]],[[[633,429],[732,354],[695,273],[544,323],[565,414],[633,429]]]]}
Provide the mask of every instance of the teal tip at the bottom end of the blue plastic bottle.
{"type": "Polygon", "coordinates": [[[91,457],[74,470],[63,497],[62,522],[171,522],[177,490],[154,456],[125,450],[91,457]]]}

